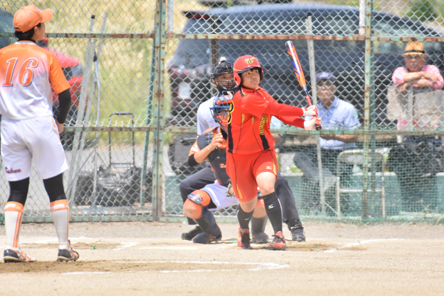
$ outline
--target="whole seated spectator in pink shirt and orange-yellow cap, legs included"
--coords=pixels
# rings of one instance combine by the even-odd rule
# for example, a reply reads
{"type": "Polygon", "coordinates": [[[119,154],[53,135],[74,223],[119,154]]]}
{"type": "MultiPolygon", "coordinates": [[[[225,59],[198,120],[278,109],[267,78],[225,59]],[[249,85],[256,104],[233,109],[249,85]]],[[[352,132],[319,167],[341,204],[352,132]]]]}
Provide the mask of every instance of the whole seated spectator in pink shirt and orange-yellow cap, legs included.
{"type": "MultiPolygon", "coordinates": [[[[405,48],[405,67],[393,73],[402,108],[398,130],[435,129],[443,123],[443,76],[438,67],[426,65],[427,54],[421,42],[409,42],[405,48]]],[[[436,173],[442,171],[442,141],[433,136],[401,137],[402,143],[391,149],[388,166],[398,176],[402,210],[422,211],[436,205],[436,173]]]]}

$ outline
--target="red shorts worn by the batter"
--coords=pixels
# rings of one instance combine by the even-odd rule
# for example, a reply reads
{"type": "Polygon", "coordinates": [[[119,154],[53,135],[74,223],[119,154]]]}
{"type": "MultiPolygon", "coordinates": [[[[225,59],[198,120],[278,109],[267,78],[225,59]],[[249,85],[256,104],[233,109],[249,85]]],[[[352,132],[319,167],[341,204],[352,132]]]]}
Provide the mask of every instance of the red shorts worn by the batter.
{"type": "Polygon", "coordinates": [[[268,172],[277,177],[277,164],[275,150],[248,155],[227,153],[227,173],[236,198],[240,202],[253,200],[257,196],[257,175],[268,172]]]}

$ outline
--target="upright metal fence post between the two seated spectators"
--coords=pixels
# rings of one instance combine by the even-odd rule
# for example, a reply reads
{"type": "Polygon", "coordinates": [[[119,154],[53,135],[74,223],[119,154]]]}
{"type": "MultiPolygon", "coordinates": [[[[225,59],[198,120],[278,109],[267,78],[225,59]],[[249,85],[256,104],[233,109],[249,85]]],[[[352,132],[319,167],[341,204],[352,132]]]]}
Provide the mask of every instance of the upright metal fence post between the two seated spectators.
{"type": "Polygon", "coordinates": [[[372,96],[373,55],[371,27],[373,19],[373,0],[366,1],[366,36],[364,44],[364,163],[362,169],[361,218],[368,218],[368,148],[370,142],[370,101],[372,96]]]}

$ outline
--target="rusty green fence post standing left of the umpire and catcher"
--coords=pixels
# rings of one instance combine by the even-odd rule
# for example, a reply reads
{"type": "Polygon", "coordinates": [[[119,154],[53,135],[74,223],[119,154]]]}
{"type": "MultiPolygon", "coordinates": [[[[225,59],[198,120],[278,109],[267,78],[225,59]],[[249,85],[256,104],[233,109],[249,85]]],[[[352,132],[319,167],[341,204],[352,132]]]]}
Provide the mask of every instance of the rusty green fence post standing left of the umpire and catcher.
{"type": "Polygon", "coordinates": [[[154,76],[154,134],[153,134],[153,220],[162,216],[163,196],[163,117],[164,62],[166,44],[167,0],[157,0],[155,12],[155,76],[154,76]]]}

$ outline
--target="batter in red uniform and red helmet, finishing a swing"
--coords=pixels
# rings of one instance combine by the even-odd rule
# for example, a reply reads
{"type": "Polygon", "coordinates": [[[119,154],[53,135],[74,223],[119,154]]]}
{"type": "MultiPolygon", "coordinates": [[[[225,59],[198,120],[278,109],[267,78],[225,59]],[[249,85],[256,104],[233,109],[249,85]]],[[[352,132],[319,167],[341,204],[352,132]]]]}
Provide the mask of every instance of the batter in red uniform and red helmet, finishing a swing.
{"type": "Polygon", "coordinates": [[[282,209],[275,193],[278,174],[274,140],[270,132],[271,116],[289,125],[315,130],[321,124],[315,106],[309,108],[280,104],[259,87],[264,71],[252,55],[241,56],[234,62],[234,80],[239,90],[234,94],[228,115],[227,173],[234,194],[239,199],[237,218],[239,247],[250,248],[248,222],[257,202],[257,187],[265,202],[265,209],[275,233],[270,246],[285,250],[282,234],[282,209]],[[304,121],[301,116],[314,116],[304,121]]]}

